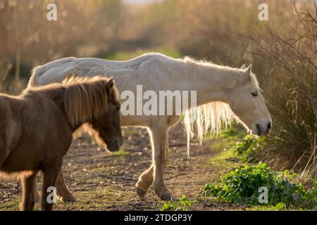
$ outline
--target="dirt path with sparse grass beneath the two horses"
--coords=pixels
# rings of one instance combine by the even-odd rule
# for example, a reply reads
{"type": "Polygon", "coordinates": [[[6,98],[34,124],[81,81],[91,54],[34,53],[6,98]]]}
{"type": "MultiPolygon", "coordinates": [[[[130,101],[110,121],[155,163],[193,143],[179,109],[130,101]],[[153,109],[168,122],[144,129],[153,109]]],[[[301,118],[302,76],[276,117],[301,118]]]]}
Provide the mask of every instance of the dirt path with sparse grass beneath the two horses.
{"type": "MultiPolygon", "coordinates": [[[[87,136],[74,141],[64,160],[66,182],[77,203],[58,203],[55,210],[159,210],[163,202],[150,189],[145,200],[135,192],[135,184],[151,164],[151,147],[146,129],[126,128],[123,150],[109,154],[87,136]]],[[[213,165],[219,151],[192,142],[187,161],[186,139],[182,125],[170,129],[170,160],[166,167],[166,185],[176,198],[192,200],[189,210],[237,210],[239,205],[215,203],[201,197],[207,182],[215,181],[228,167],[213,165]]],[[[20,185],[0,181],[0,210],[18,210],[20,185]]],[[[38,209],[38,204],[36,208],[38,209]]]]}

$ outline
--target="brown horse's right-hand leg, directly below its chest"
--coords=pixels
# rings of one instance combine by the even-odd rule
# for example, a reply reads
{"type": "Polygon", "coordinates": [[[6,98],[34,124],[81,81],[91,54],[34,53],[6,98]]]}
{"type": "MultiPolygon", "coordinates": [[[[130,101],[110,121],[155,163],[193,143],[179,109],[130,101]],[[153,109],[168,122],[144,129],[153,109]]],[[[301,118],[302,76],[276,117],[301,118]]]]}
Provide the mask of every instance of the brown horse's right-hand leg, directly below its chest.
{"type": "Polygon", "coordinates": [[[43,169],[43,186],[42,186],[42,204],[41,210],[51,211],[54,203],[54,188],[56,188],[56,180],[61,171],[61,160],[56,160],[56,164],[43,169]],[[49,196],[53,195],[53,196],[49,196]],[[50,197],[50,198],[48,198],[50,197]],[[51,198],[53,197],[53,198],[51,198]]]}

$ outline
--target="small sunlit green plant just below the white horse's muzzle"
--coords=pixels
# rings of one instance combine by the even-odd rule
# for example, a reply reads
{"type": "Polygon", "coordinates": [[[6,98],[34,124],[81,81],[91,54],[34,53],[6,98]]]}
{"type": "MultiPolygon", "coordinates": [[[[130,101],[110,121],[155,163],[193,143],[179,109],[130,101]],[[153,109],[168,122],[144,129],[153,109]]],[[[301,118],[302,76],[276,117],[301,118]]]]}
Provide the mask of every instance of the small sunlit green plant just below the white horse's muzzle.
{"type": "Polygon", "coordinates": [[[242,162],[254,162],[256,161],[255,153],[263,150],[266,146],[266,137],[261,136],[255,138],[254,136],[244,136],[242,141],[237,143],[237,146],[233,146],[235,153],[241,156],[242,162]]]}

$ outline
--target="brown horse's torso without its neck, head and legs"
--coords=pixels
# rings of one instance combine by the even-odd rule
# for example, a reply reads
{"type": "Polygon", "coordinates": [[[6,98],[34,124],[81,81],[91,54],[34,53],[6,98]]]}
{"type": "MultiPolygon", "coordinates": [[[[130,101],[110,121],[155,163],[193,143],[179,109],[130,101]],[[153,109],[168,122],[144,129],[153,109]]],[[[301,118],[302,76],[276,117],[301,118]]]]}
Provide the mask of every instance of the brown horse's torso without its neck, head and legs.
{"type": "Polygon", "coordinates": [[[36,92],[17,98],[1,96],[0,110],[1,171],[42,169],[43,160],[63,157],[68,150],[72,128],[51,98],[36,92]],[[51,143],[48,138],[58,141],[51,143]],[[49,151],[52,146],[56,151],[49,151]]]}

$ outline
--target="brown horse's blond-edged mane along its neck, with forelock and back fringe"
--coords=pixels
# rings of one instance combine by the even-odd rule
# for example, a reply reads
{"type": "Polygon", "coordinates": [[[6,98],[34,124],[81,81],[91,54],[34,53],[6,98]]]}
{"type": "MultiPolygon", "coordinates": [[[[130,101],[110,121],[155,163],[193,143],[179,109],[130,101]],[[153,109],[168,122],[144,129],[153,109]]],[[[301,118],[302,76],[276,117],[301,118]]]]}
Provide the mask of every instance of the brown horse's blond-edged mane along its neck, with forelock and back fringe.
{"type": "MultiPolygon", "coordinates": [[[[26,91],[34,91],[54,96],[54,90],[63,89],[63,102],[66,118],[72,126],[99,117],[108,107],[107,83],[109,78],[78,77],[72,75],[63,79],[62,84],[49,84],[32,87],[26,91]]],[[[115,101],[119,101],[118,90],[115,86],[109,90],[115,101]]]]}

